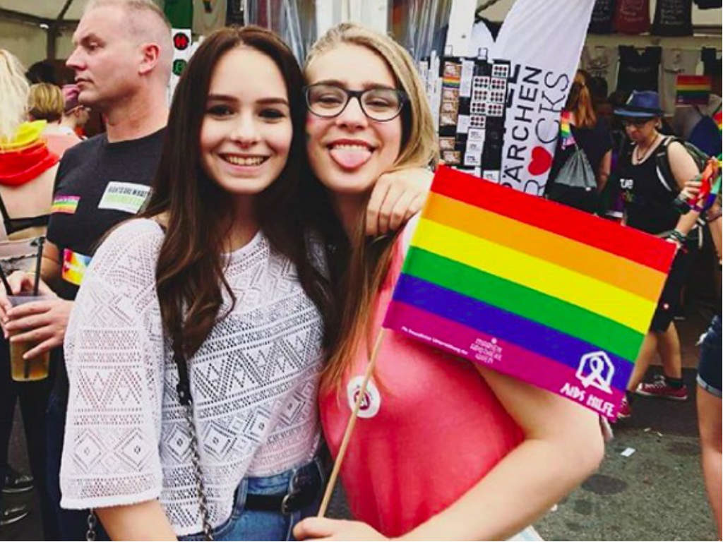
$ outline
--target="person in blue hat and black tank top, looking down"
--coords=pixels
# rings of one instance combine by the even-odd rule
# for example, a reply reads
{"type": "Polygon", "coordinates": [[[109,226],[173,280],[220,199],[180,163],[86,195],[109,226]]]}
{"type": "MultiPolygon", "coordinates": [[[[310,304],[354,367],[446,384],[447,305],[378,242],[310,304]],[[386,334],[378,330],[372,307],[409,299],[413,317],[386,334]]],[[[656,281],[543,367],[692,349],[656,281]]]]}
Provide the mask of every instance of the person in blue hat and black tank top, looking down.
{"type": "Polygon", "coordinates": [[[697,246],[688,242],[688,233],[696,225],[698,214],[680,215],[673,200],[685,181],[699,171],[680,142],[660,134],[663,111],[658,93],[634,90],[628,102],[615,109],[615,114],[621,117],[630,139],[617,165],[625,202],[623,223],[664,237],[677,246],[675,260],[628,382],[628,397],[618,414],[620,418],[628,418],[633,393],[677,401],[688,399],[681,370],[680,340],[672,320],[697,246]],[[667,160],[669,167],[664,170],[669,173],[662,173],[659,160],[667,160]],[[662,359],[664,377],[641,382],[656,352],[662,359]]]}

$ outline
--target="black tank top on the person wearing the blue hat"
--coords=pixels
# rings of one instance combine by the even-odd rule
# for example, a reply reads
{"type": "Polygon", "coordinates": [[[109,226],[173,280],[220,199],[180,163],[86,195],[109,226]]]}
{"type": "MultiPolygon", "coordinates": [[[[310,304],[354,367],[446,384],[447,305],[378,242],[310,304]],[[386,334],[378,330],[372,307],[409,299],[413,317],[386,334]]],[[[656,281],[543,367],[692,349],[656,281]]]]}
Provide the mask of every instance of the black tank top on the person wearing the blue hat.
{"type": "Polygon", "coordinates": [[[633,165],[633,145],[630,144],[625,148],[617,167],[628,225],[657,234],[675,228],[680,213],[673,205],[678,192],[677,185],[663,184],[657,173],[655,155],[656,151],[653,151],[643,163],[633,165]]]}

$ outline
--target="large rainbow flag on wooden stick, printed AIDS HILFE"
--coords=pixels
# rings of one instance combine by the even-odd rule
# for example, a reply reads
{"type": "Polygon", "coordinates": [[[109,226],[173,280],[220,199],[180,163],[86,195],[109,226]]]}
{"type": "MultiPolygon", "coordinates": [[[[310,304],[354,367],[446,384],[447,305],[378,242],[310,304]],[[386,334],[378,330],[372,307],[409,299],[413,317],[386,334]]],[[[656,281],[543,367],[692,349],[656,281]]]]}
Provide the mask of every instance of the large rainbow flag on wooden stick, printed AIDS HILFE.
{"type": "Polygon", "coordinates": [[[384,327],[615,418],[674,252],[441,166],[384,327]]]}

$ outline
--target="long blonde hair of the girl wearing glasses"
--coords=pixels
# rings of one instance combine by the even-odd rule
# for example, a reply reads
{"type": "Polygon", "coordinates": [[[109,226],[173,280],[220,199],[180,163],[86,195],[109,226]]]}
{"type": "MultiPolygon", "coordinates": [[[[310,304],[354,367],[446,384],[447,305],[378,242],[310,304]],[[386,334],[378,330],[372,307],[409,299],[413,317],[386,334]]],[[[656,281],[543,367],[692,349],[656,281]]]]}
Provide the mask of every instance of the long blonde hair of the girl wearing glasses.
{"type": "MultiPolygon", "coordinates": [[[[393,170],[437,165],[437,134],[424,85],[409,53],[392,38],[343,22],[312,46],[304,72],[308,72],[309,66],[323,53],[344,43],[367,48],[380,56],[408,97],[401,113],[403,137],[393,170]]],[[[364,340],[368,349],[373,340],[370,329],[372,307],[389,270],[396,236],[370,242],[364,231],[364,224],[360,224],[357,242],[352,244],[344,283],[338,288],[342,300],[341,324],[338,333],[334,334],[330,359],[322,372],[321,386],[325,390],[341,385],[364,340]]]]}

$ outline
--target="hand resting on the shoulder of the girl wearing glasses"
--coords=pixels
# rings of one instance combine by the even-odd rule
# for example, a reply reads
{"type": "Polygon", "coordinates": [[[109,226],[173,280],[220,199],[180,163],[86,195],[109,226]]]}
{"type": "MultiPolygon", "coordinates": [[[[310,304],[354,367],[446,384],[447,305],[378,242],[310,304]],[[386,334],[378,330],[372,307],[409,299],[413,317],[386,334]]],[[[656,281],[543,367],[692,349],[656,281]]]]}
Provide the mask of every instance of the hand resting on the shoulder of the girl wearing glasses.
{"type": "Polygon", "coordinates": [[[406,168],[383,173],[367,205],[367,236],[397,231],[422,210],[434,173],[427,168],[406,168]]]}

